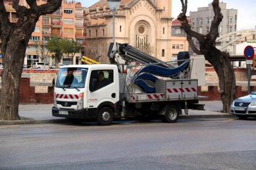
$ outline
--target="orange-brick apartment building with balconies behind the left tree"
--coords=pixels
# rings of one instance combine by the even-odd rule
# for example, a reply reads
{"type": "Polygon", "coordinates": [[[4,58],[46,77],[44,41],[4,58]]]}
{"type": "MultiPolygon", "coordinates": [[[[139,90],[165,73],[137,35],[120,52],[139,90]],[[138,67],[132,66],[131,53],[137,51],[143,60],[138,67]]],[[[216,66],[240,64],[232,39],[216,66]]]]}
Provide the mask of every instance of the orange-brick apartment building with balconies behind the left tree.
{"type": "MultiPolygon", "coordinates": [[[[45,4],[46,0],[36,1],[38,5],[45,4]]],[[[20,5],[28,6],[25,0],[20,0],[20,5]]],[[[5,2],[8,16],[11,22],[17,22],[17,14],[12,8],[12,2],[5,2]]],[[[85,32],[85,13],[80,2],[65,0],[53,14],[43,15],[40,17],[35,26],[35,31],[28,42],[24,65],[31,67],[33,62],[47,62],[50,65],[54,63],[49,54],[46,43],[51,36],[56,35],[58,38],[75,39],[80,42],[83,47],[86,46],[85,32]]],[[[63,57],[62,63],[76,64],[79,63],[79,57],[83,54],[83,50],[73,59],[63,57]]]]}

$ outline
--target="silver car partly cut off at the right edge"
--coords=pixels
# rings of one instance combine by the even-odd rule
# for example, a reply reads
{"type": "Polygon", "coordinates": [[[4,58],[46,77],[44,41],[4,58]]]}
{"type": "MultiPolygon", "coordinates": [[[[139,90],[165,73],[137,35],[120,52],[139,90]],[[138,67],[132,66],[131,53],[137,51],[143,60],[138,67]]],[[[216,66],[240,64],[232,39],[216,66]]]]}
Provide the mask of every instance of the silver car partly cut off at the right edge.
{"type": "Polygon", "coordinates": [[[234,100],[230,108],[238,118],[256,117],[256,91],[234,100]]]}

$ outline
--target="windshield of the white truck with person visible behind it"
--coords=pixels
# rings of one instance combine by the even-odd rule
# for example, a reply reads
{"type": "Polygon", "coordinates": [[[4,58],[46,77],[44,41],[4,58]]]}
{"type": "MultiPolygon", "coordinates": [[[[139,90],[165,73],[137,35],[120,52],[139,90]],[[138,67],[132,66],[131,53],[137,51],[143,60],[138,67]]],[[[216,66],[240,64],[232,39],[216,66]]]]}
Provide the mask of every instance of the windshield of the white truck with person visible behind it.
{"type": "Polygon", "coordinates": [[[85,87],[88,68],[61,68],[59,69],[56,87],[77,89],[85,87]]]}

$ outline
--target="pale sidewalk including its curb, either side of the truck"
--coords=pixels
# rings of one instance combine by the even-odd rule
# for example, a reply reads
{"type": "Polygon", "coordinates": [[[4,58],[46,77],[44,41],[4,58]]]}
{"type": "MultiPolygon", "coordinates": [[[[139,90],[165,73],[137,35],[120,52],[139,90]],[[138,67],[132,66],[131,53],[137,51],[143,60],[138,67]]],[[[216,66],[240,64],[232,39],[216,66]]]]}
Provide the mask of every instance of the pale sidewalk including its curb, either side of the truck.
{"type": "MultiPolygon", "coordinates": [[[[180,119],[204,119],[204,118],[234,118],[236,116],[221,113],[221,101],[201,101],[205,104],[205,110],[189,110],[189,115],[181,115],[180,119]]],[[[40,123],[67,123],[65,118],[57,118],[51,115],[53,104],[19,105],[19,121],[0,121],[0,125],[6,124],[40,124],[40,123]]]]}

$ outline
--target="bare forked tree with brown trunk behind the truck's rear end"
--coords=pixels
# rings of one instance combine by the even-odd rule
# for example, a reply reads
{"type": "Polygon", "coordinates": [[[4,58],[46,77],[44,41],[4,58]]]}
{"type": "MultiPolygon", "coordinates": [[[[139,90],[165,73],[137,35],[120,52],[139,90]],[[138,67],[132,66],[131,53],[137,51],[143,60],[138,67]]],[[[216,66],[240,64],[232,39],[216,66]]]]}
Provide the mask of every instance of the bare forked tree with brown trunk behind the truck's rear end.
{"type": "Polygon", "coordinates": [[[216,49],[215,41],[218,37],[218,26],[220,25],[223,15],[221,14],[221,9],[219,6],[218,0],[213,0],[212,6],[213,11],[215,13],[215,17],[211,22],[211,28],[209,33],[200,34],[193,30],[189,25],[187,20],[186,12],[187,12],[187,0],[181,0],[182,4],[182,12],[179,14],[177,19],[181,21],[182,28],[187,33],[187,40],[189,41],[189,45],[192,47],[193,51],[196,54],[205,55],[205,59],[213,65],[215,71],[219,78],[219,86],[220,86],[220,95],[223,103],[223,112],[230,113],[230,105],[234,100],[235,91],[236,91],[236,77],[234,75],[233,66],[228,59],[228,54],[225,52],[221,52],[216,49]],[[192,41],[192,37],[198,40],[200,43],[200,50],[195,47],[194,42],[192,41]]]}

